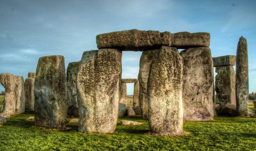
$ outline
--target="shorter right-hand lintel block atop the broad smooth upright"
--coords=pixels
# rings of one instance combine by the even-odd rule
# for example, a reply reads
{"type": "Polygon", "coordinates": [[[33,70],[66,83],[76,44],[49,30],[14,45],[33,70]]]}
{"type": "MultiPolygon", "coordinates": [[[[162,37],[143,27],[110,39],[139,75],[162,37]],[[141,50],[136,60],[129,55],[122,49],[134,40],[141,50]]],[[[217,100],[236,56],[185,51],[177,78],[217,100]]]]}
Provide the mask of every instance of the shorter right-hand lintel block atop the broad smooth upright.
{"type": "Polygon", "coordinates": [[[209,47],[210,34],[209,33],[189,33],[179,32],[172,34],[172,46],[177,49],[187,49],[194,47],[209,47]]]}

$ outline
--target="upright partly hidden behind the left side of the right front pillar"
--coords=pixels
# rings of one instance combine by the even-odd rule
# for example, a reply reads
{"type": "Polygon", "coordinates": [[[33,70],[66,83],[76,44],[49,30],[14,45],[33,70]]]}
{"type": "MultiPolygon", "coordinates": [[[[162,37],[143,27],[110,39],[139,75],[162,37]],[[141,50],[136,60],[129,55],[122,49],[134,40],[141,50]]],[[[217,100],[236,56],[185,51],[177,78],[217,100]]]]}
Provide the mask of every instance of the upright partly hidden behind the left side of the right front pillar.
{"type": "Polygon", "coordinates": [[[151,62],[156,57],[159,50],[143,51],[140,57],[139,80],[139,104],[141,109],[141,117],[148,119],[147,106],[147,80],[150,72],[151,62]]]}

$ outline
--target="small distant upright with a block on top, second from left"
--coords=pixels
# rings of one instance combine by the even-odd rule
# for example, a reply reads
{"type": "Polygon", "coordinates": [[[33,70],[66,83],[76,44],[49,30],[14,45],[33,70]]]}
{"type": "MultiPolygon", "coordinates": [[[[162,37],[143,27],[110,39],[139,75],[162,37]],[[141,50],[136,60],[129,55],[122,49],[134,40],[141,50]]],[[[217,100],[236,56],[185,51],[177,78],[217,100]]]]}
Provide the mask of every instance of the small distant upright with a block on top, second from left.
{"type": "Polygon", "coordinates": [[[34,81],[35,81],[35,73],[29,72],[28,78],[26,78],[24,86],[25,86],[25,95],[26,95],[26,111],[34,111],[34,81]]]}

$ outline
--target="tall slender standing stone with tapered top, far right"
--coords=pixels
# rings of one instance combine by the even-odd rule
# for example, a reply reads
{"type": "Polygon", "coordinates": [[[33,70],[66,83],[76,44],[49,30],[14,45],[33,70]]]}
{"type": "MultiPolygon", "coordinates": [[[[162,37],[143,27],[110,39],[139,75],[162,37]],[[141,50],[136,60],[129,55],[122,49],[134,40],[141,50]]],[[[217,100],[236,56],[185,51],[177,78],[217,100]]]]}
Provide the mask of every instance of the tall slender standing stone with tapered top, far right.
{"type": "Polygon", "coordinates": [[[236,102],[237,115],[248,115],[248,54],[246,39],[241,36],[237,45],[236,102]]]}

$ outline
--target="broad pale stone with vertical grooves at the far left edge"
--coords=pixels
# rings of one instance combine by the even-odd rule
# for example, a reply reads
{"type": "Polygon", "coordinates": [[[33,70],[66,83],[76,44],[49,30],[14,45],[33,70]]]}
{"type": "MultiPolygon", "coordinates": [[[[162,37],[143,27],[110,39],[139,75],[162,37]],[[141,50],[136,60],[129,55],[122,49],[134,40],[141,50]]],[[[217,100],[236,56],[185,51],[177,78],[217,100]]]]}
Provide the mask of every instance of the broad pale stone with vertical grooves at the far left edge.
{"type": "Polygon", "coordinates": [[[25,112],[25,90],[22,76],[14,76],[11,73],[0,75],[1,84],[5,88],[5,95],[1,109],[2,116],[25,112]]]}

